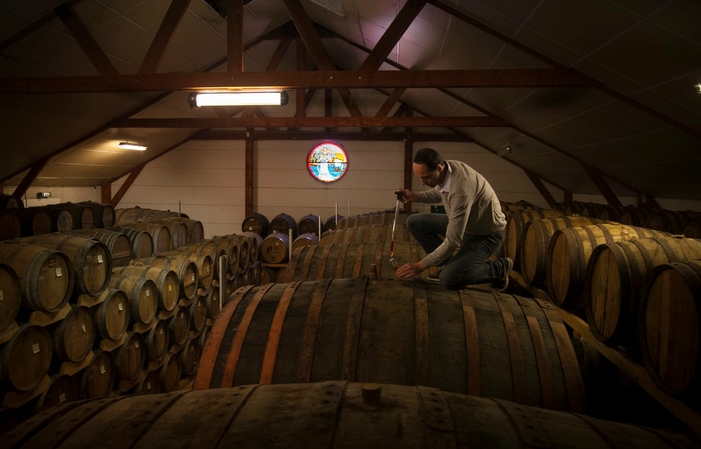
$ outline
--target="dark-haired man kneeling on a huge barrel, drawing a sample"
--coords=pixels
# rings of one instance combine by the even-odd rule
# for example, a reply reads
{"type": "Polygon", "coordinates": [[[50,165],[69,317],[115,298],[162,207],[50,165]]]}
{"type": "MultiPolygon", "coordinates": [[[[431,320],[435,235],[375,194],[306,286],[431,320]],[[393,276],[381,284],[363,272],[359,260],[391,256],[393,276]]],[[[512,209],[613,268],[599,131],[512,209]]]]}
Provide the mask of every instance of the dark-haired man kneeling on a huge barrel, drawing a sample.
{"type": "Polygon", "coordinates": [[[407,218],[407,228],[428,255],[399,267],[397,277],[417,276],[429,267],[444,265],[438,279],[448,289],[491,283],[499,291],[506,290],[513,261],[508,257],[487,260],[504,242],[506,220],[484,176],[464,162],[444,161],[431,148],[416,153],[414,174],[432,189],[419,193],[400,189],[403,202],[442,201],[446,214],[407,218]]]}

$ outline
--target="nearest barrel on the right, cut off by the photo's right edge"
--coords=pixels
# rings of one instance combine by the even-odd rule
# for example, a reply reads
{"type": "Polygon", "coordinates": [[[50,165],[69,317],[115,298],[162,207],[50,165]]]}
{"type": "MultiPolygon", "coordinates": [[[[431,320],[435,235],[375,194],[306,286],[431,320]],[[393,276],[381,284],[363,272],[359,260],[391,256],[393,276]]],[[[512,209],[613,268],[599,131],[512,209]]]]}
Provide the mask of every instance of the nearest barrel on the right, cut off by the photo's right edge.
{"type": "Polygon", "coordinates": [[[698,398],[701,260],[658,265],[648,279],[638,320],[645,368],[665,393],[698,398]]]}

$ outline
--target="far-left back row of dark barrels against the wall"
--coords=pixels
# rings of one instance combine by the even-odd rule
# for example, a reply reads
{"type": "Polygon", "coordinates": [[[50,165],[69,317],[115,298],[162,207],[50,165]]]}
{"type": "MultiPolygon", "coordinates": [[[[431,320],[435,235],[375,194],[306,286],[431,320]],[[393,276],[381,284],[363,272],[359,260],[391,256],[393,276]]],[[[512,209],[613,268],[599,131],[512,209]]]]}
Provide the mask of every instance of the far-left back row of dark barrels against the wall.
{"type": "Polygon", "coordinates": [[[91,201],[0,211],[0,240],[114,225],[114,209],[91,201]]]}

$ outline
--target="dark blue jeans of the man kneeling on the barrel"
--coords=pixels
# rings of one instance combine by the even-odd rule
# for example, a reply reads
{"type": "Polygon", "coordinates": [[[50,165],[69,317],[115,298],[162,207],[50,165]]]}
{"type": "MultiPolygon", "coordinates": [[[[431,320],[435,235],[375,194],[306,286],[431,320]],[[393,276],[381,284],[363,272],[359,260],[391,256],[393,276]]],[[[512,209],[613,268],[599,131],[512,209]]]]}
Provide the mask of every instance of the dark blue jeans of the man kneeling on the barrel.
{"type": "MultiPolygon", "coordinates": [[[[409,215],[406,226],[426,254],[432,253],[443,243],[439,235],[445,235],[448,228],[446,214],[409,215]]],[[[502,275],[502,265],[498,261],[487,260],[504,242],[504,232],[491,235],[465,234],[462,246],[450,259],[439,275],[441,285],[450,290],[460,290],[473,284],[486,284],[497,281],[502,275]]]]}

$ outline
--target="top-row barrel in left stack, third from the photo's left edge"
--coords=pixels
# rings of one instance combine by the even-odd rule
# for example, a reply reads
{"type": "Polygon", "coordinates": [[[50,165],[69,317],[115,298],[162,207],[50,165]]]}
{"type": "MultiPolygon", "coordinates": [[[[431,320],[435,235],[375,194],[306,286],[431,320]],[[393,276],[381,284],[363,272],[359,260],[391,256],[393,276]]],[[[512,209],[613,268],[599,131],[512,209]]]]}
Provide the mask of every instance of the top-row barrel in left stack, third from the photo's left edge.
{"type": "Polygon", "coordinates": [[[61,251],[71,260],[78,294],[98,296],[107,288],[112,255],[99,240],[75,234],[46,234],[25,237],[21,243],[61,251]]]}

